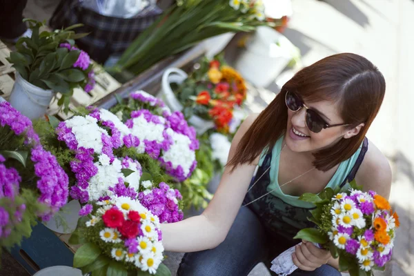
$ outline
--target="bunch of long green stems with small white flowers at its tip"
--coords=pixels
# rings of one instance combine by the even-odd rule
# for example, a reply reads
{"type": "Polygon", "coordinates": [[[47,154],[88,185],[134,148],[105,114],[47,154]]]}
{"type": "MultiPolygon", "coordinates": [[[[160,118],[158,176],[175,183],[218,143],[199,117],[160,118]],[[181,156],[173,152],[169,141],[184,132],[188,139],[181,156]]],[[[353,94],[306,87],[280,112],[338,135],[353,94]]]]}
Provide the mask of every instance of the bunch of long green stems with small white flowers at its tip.
{"type": "Polygon", "coordinates": [[[131,43],[115,69],[139,74],[209,37],[272,25],[264,19],[260,0],[178,0],[131,43]]]}

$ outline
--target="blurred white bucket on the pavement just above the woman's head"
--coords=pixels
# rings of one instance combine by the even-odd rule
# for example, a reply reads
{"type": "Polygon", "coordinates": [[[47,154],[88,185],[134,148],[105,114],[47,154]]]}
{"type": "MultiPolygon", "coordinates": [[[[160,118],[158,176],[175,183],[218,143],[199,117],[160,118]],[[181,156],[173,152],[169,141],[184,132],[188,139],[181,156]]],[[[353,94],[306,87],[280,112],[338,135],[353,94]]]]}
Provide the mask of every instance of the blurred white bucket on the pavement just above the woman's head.
{"type": "Polygon", "coordinates": [[[246,49],[235,61],[235,69],[253,85],[266,87],[293,58],[294,47],[276,30],[261,26],[248,39],[246,49]]]}

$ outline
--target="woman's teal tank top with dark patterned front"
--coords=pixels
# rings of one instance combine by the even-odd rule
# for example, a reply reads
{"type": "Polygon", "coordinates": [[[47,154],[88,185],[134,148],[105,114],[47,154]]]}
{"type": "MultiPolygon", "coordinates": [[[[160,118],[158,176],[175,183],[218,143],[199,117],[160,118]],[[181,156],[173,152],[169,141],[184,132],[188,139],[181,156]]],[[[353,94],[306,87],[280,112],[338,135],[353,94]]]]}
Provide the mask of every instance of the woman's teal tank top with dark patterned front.
{"type": "MultiPolygon", "coordinates": [[[[270,234],[293,239],[299,230],[315,226],[307,219],[311,215],[310,210],[315,206],[299,200],[299,197],[285,195],[279,188],[277,175],[279,174],[279,153],[282,150],[283,138],[280,137],[277,140],[270,152],[266,150],[262,152],[259,167],[250,183],[250,190],[246,194],[243,204],[248,204],[272,191],[244,208],[253,210],[270,234]],[[256,180],[257,183],[253,186],[256,180]]],[[[364,139],[358,150],[349,159],[339,164],[326,187],[334,189],[338,186],[344,187],[348,181],[352,181],[367,150],[368,139],[364,139]]]]}

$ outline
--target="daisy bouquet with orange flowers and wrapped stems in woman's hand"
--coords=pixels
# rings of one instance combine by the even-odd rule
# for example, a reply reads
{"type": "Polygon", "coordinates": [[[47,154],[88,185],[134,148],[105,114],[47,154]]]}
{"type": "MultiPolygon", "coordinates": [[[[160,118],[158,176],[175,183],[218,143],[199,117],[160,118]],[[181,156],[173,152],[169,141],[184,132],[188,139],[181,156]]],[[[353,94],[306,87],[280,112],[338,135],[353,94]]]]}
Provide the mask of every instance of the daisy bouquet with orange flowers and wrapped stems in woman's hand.
{"type": "MultiPolygon", "coordinates": [[[[317,227],[300,230],[295,239],[330,250],[334,258],[339,257],[339,270],[348,270],[351,276],[369,276],[373,269],[384,270],[390,261],[400,221],[384,197],[372,190],[362,192],[355,181],[351,187],[344,193],[326,188],[319,195],[305,193],[299,197],[317,206],[309,218],[317,227]]],[[[296,269],[290,257],[294,250],[279,255],[271,269],[282,275],[292,273],[296,269]]]]}

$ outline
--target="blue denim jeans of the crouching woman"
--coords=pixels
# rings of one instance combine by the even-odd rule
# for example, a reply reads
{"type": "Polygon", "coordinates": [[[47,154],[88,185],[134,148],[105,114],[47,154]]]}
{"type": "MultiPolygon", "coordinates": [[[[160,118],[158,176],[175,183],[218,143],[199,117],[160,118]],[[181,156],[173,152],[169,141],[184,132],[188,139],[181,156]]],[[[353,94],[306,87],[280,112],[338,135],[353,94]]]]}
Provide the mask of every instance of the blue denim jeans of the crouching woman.
{"type": "MultiPolygon", "coordinates": [[[[299,242],[299,241],[297,241],[299,242]]],[[[270,262],[295,243],[269,235],[256,215],[246,207],[237,214],[233,226],[219,246],[210,250],[186,253],[178,276],[246,276],[259,262],[270,262]]],[[[272,275],[276,275],[270,271],[272,275]]],[[[291,276],[340,276],[338,270],[324,265],[314,271],[295,270],[291,276]]]]}

